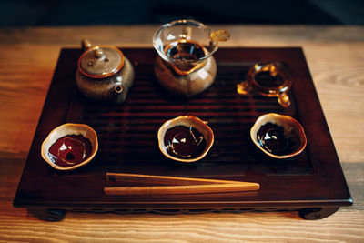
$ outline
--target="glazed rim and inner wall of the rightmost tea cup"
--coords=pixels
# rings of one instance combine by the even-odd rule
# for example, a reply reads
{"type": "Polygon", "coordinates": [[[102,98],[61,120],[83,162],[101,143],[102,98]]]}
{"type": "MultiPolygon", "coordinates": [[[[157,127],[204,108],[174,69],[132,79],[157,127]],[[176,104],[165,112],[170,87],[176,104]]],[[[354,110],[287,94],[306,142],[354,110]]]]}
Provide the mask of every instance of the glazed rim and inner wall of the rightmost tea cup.
{"type": "Polygon", "coordinates": [[[281,159],[281,158],[288,158],[288,157],[294,157],[294,156],[297,156],[298,154],[300,154],[304,149],[305,147],[307,146],[307,137],[306,137],[306,134],[305,134],[305,130],[303,129],[302,125],[293,117],[291,116],[286,116],[286,115],[280,115],[278,113],[268,113],[268,114],[264,114],[262,116],[259,116],[258,119],[256,120],[256,122],[254,123],[253,127],[251,127],[250,129],[250,138],[251,140],[253,141],[253,143],[261,150],[263,151],[265,154],[267,154],[269,157],[274,157],[274,158],[278,158],[278,159],[281,159]],[[285,119],[285,120],[289,120],[291,123],[295,124],[296,127],[299,128],[299,130],[297,131],[298,132],[298,135],[299,137],[301,138],[301,146],[296,150],[294,151],[293,153],[290,153],[288,155],[281,155],[281,156],[278,156],[278,155],[275,155],[275,154],[272,154],[270,152],[268,152],[266,149],[264,149],[263,147],[261,147],[258,143],[258,140],[257,140],[257,132],[258,132],[258,129],[260,127],[262,127],[263,125],[267,124],[268,121],[264,124],[262,124],[262,121],[267,117],[267,116],[275,116],[277,117],[278,119],[285,119]]]}

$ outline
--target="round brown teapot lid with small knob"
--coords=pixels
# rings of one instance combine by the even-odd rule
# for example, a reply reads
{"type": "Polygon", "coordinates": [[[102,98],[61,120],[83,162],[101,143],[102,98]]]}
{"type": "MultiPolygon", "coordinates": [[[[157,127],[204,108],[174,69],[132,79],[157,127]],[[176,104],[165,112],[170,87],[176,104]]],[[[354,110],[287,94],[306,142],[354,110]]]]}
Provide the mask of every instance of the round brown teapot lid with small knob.
{"type": "Polygon", "coordinates": [[[124,55],[115,46],[93,46],[78,59],[80,72],[93,78],[112,76],[123,65],[124,55]]]}

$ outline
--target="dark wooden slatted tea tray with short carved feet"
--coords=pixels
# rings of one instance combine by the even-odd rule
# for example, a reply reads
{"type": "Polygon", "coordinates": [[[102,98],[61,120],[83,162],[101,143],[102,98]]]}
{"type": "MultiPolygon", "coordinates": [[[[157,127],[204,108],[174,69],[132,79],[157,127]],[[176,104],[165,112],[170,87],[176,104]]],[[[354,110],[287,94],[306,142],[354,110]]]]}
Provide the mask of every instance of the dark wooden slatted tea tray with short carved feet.
{"type": "MultiPolygon", "coordinates": [[[[134,86],[124,104],[111,105],[82,96],[76,88],[81,49],[62,49],[45,106],[15,195],[15,207],[57,221],[66,210],[91,212],[204,212],[299,210],[307,219],[326,218],[350,206],[345,177],[301,48],[219,49],[213,86],[190,99],[168,94],[153,73],[156,51],[123,49],[135,66],[134,86]],[[292,105],[276,98],[238,95],[236,85],[257,62],[280,62],[288,68],[292,105]],[[293,116],[304,127],[306,149],[297,157],[277,160],[253,145],[250,127],[258,116],[276,112],[293,116]],[[207,157],[183,164],[163,157],[157,130],[167,119],[191,115],[208,121],[215,144],[207,157]],[[84,123],[96,130],[99,151],[85,167],[56,171],[45,163],[40,147],[48,133],[64,123],[84,123]],[[185,195],[105,195],[106,172],[200,177],[258,182],[250,192],[185,195]]],[[[120,185],[119,185],[120,186],[120,185]]]]}

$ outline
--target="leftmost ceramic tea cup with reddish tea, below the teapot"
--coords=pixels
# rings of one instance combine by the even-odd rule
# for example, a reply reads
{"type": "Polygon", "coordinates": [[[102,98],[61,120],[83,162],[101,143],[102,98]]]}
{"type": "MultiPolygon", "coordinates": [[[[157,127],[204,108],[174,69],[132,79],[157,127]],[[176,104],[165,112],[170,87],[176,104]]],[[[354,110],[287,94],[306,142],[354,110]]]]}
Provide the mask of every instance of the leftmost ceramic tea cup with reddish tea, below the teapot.
{"type": "Polygon", "coordinates": [[[89,163],[95,157],[97,149],[97,135],[92,127],[85,124],[66,123],[56,127],[45,138],[41,147],[41,155],[51,167],[58,170],[72,170],[89,163]],[[67,137],[68,141],[61,141],[63,137],[67,137]],[[54,155],[52,146],[58,144],[57,155],[54,155]],[[78,154],[84,158],[76,161],[78,154]],[[57,159],[61,159],[61,161],[57,159]]]}

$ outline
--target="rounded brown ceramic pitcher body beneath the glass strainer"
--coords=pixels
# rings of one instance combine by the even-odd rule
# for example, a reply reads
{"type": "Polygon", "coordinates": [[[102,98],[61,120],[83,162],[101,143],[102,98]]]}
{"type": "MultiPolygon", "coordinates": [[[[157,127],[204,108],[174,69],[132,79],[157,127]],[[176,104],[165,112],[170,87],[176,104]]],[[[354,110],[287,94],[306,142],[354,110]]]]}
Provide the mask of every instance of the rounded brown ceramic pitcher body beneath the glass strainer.
{"type": "Polygon", "coordinates": [[[159,84],[167,91],[190,97],[212,85],[217,75],[217,64],[215,58],[210,56],[207,58],[205,66],[187,76],[180,76],[160,56],[157,56],[154,71],[159,84]]]}

